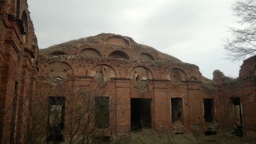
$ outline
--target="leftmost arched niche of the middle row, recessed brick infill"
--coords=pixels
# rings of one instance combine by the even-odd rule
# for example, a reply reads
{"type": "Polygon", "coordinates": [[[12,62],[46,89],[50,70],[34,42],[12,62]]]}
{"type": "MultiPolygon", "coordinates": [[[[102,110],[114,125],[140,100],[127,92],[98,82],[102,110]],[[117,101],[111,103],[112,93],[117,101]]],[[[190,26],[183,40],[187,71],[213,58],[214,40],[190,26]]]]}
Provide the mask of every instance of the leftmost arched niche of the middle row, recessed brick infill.
{"type": "Polygon", "coordinates": [[[65,81],[72,76],[73,70],[67,63],[54,62],[49,65],[48,77],[54,81],[65,81]]]}

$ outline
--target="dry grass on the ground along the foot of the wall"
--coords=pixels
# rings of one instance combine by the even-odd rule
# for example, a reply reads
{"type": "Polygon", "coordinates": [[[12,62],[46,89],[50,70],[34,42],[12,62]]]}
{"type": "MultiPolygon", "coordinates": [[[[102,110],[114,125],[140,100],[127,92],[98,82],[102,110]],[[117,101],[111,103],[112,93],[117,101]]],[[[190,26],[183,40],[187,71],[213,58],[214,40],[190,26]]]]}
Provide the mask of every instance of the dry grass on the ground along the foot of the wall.
{"type": "Polygon", "coordinates": [[[112,141],[112,143],[256,143],[255,139],[237,137],[231,135],[228,131],[222,131],[217,135],[210,136],[195,136],[192,134],[180,134],[175,135],[172,133],[157,133],[151,129],[140,129],[133,131],[129,136],[122,138],[120,140],[112,141]]]}

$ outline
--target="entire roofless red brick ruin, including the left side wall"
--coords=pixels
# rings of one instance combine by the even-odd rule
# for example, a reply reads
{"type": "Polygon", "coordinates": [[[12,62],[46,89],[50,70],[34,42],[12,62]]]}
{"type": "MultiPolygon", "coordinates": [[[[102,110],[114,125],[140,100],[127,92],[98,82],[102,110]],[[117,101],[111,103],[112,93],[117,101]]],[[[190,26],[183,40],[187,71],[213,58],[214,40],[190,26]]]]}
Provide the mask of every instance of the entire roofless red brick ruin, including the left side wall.
{"type": "Polygon", "coordinates": [[[67,113],[73,104],[84,105],[82,99],[75,99],[81,89],[83,93],[104,90],[90,102],[100,108],[90,122],[98,124],[95,131],[129,133],[149,127],[207,134],[225,128],[240,135],[255,134],[255,56],[244,61],[237,79],[215,70],[209,80],[198,66],[117,34],[99,34],[39,50],[26,0],[3,0],[0,6],[2,142],[31,139],[33,128],[39,125],[45,138],[51,138],[49,129],[57,129],[64,137],[72,135],[67,130],[75,121],[74,111],[67,113]],[[57,122],[51,119],[56,109],[60,112],[57,122]],[[95,117],[104,120],[99,123],[95,117]]]}

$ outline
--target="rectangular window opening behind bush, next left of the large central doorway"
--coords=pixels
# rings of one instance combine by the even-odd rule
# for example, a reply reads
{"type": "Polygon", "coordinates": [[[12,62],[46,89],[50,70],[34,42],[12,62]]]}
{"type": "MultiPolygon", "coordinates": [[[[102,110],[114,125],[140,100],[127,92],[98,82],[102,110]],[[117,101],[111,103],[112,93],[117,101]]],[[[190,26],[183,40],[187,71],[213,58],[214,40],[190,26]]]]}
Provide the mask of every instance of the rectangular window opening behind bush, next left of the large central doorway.
{"type": "Polygon", "coordinates": [[[95,97],[95,126],[96,128],[109,127],[109,97],[95,97]]]}

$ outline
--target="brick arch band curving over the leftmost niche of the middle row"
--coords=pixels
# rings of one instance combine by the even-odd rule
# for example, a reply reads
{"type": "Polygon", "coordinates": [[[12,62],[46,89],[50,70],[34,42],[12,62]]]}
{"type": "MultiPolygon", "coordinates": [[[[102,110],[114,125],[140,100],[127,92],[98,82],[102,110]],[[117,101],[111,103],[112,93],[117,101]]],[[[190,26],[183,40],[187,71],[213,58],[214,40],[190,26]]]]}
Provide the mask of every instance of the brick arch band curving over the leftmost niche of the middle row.
{"type": "Polygon", "coordinates": [[[51,59],[47,59],[45,61],[45,63],[42,65],[41,69],[43,69],[42,73],[46,74],[46,67],[49,66],[51,63],[65,63],[67,65],[69,65],[72,68],[72,72],[74,73],[74,75],[77,75],[77,69],[73,66],[72,62],[65,59],[65,58],[51,58],[51,59]]]}

